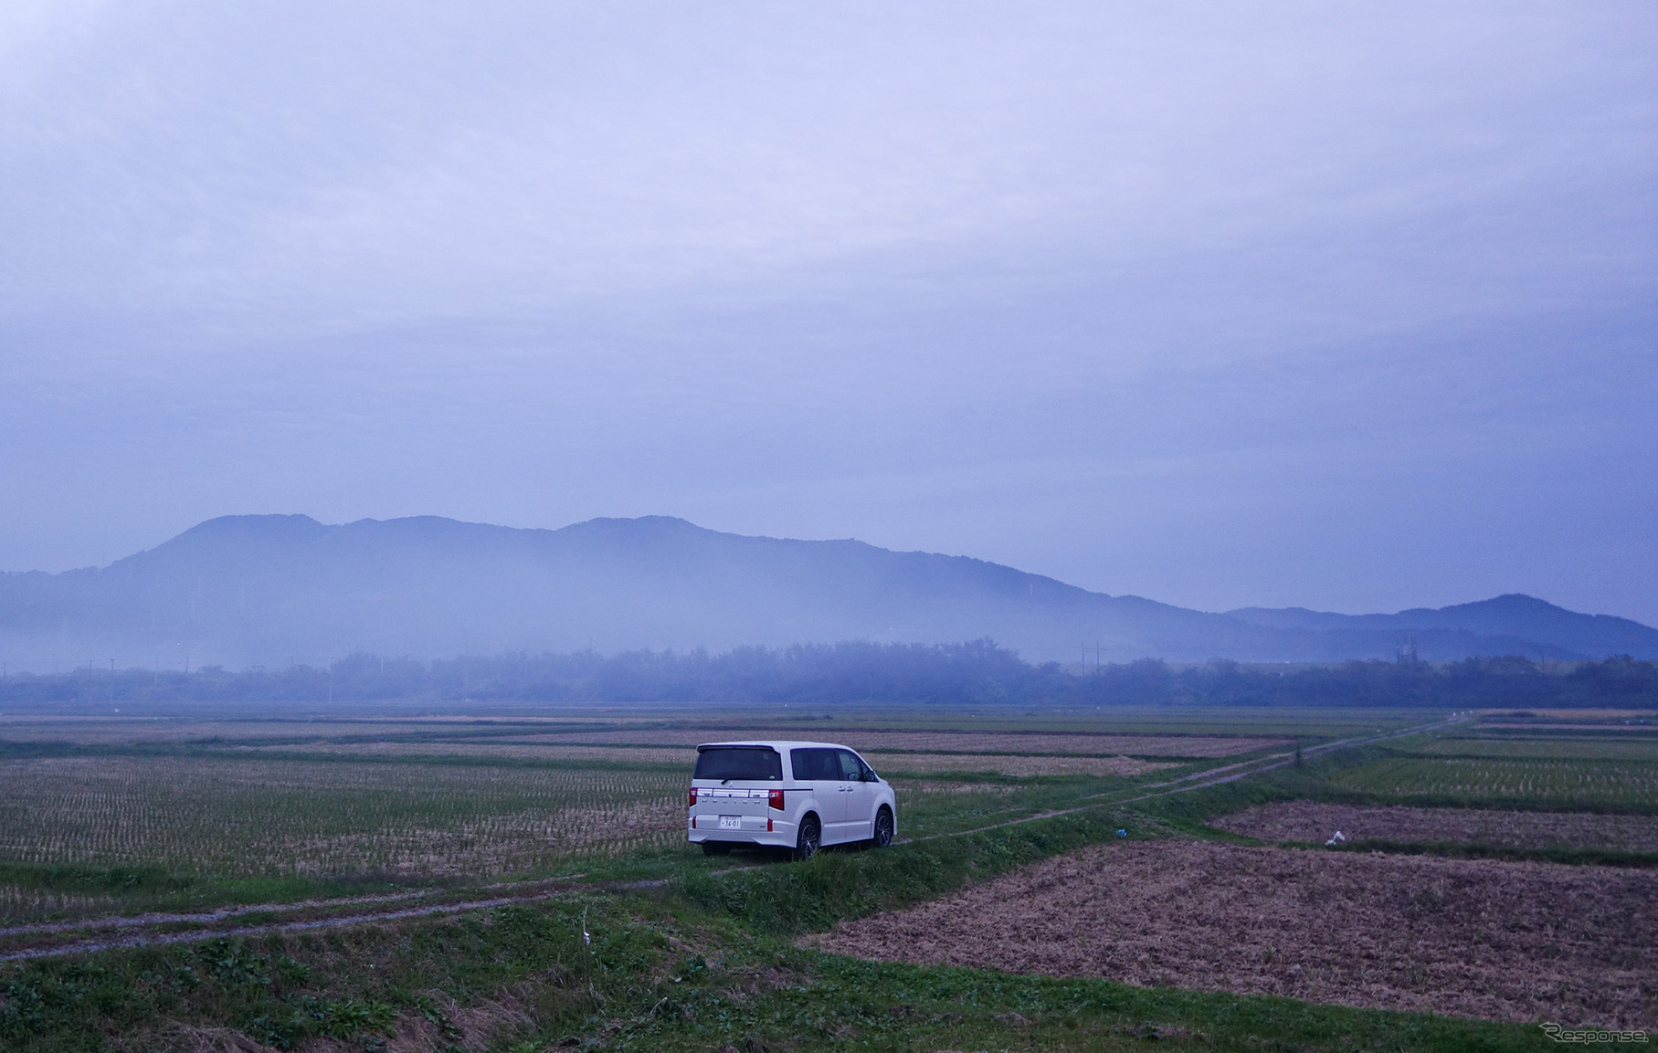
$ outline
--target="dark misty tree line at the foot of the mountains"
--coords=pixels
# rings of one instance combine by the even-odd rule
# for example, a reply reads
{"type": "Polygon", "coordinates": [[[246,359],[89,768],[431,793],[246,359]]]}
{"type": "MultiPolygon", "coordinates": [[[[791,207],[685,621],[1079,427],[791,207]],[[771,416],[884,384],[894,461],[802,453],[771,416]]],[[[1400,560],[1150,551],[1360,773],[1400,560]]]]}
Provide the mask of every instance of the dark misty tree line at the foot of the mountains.
{"type": "Polygon", "coordinates": [[[1176,667],[1031,665],[990,640],[739,647],[711,655],[504,653],[434,662],[350,655],[327,667],[232,672],[80,668],[12,673],[0,703],[166,701],[431,703],[890,703],[890,705],[1252,705],[1252,706],[1658,706],[1658,663],[1626,655],[1539,665],[1522,657],[1449,663],[1341,662],[1176,667]]]}

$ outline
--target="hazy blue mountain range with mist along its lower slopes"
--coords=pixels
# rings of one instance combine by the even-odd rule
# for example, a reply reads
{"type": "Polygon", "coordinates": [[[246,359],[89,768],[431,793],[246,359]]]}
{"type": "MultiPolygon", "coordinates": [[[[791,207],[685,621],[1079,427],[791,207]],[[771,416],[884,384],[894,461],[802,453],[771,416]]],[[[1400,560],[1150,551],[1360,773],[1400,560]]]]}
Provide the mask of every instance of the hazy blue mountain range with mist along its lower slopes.
{"type": "Polygon", "coordinates": [[[592,519],[559,531],[434,516],[323,526],[225,516],[103,569],[0,574],[0,658],[177,668],[509,650],[728,650],[990,637],[1028,660],[1333,662],[1658,657],[1658,630],[1500,595],[1439,610],[1205,614],[962,556],[592,519]]]}

